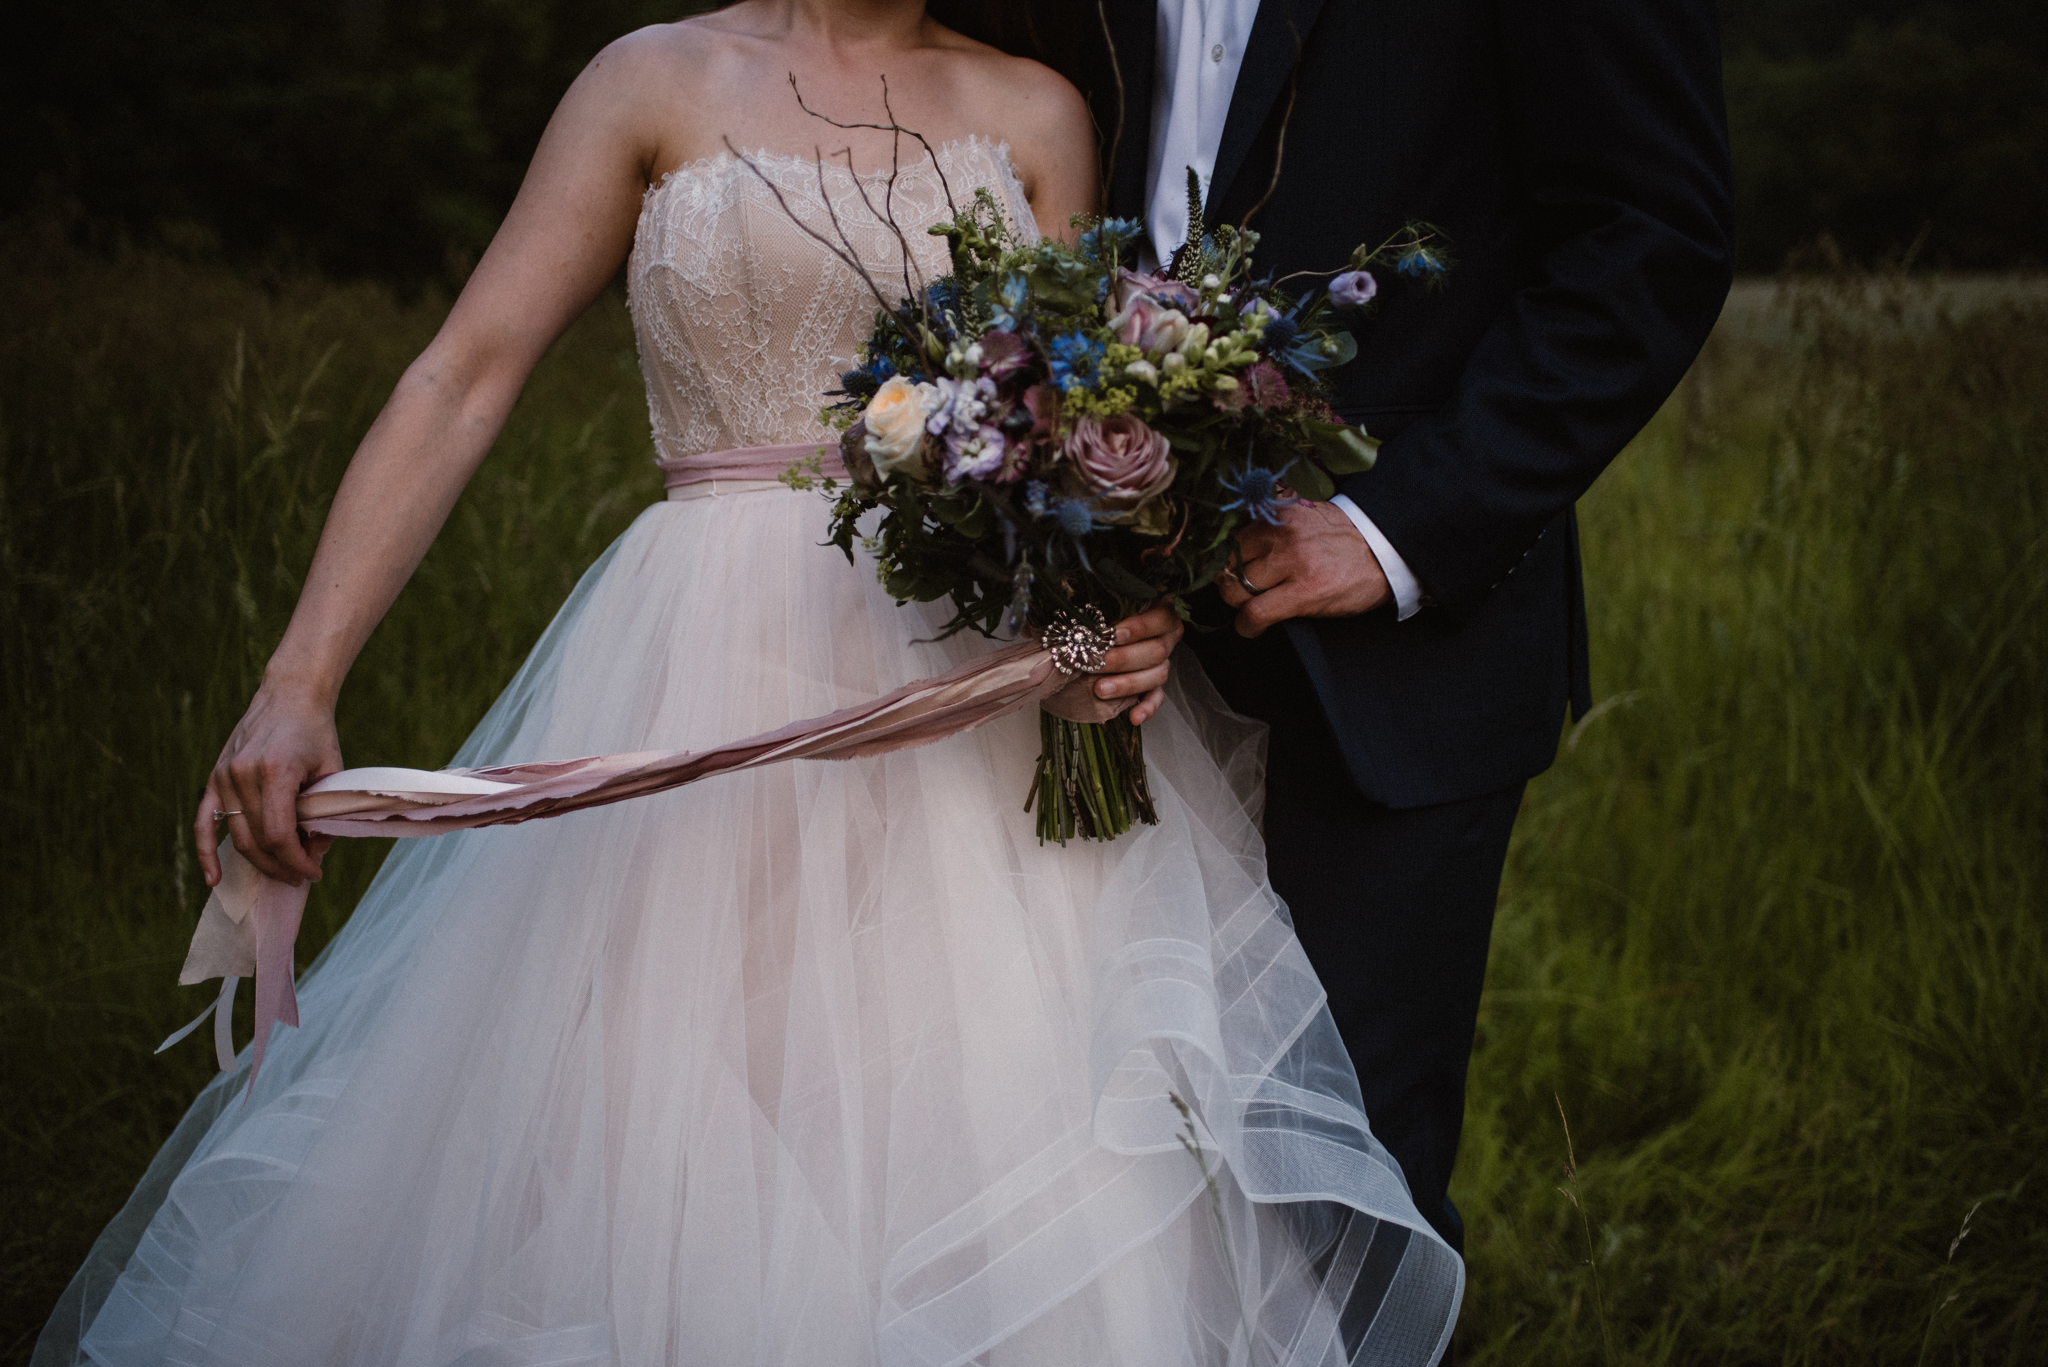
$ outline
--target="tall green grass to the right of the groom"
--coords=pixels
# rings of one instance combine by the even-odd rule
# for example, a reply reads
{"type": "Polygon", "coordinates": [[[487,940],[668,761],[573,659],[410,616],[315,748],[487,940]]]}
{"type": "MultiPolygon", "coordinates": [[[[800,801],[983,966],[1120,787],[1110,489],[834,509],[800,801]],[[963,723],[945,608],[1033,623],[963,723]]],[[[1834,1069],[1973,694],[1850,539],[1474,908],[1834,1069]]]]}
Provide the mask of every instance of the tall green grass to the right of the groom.
{"type": "Polygon", "coordinates": [[[2040,1361],[2048,303],[1747,289],[1583,504],[1604,701],[1509,859],[1466,1361],[2040,1361]]]}

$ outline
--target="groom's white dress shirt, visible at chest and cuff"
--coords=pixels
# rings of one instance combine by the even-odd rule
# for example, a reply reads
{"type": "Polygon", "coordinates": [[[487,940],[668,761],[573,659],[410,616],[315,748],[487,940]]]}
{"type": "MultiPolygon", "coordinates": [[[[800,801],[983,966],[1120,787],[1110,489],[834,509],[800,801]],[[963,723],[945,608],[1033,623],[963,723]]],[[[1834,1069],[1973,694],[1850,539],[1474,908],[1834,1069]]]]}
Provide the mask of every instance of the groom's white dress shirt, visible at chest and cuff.
{"type": "MultiPolygon", "coordinates": [[[[1145,227],[1157,260],[1171,260],[1188,240],[1188,168],[1202,178],[1217,170],[1223,121],[1245,59],[1260,0],[1159,0],[1159,70],[1153,78],[1151,156],[1145,178],[1145,227]]],[[[1393,541],[1343,494],[1331,504],[1352,519],[1372,547],[1401,621],[1421,607],[1421,584],[1393,541]]]]}

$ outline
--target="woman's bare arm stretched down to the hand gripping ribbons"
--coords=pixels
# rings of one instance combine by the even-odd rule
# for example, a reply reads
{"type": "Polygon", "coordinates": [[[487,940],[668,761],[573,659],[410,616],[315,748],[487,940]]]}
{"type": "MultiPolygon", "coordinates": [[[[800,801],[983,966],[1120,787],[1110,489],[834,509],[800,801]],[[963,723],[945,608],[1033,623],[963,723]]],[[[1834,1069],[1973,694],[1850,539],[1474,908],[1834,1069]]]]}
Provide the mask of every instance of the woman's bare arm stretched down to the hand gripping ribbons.
{"type": "Polygon", "coordinates": [[[193,822],[219,881],[215,812],[270,877],[319,877],[326,840],[301,844],[299,789],[342,769],[334,701],[356,652],[434,541],[498,439],[541,355],[618,271],[655,148],[649,74],[631,39],[578,78],[512,211],[432,344],[397,381],[334,494],[291,625],[227,738],[193,822]]]}

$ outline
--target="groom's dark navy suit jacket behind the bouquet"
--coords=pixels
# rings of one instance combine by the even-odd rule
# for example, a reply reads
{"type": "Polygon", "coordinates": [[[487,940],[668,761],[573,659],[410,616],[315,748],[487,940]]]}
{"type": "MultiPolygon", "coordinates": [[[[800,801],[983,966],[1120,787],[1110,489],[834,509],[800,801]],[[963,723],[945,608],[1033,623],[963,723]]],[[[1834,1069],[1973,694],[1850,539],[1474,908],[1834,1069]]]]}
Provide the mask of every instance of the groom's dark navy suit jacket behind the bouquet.
{"type": "MultiPolygon", "coordinates": [[[[1108,0],[1108,31],[1124,109],[1108,209],[1137,217],[1153,0],[1108,0]]],[[[1106,43],[1083,84],[1108,141],[1106,43]]],[[[1714,4],[1264,0],[1208,221],[1241,221],[1268,187],[1262,275],[1341,268],[1407,219],[1456,254],[1442,291],[1382,275],[1358,361],[1335,371],[1337,410],[1384,439],[1341,488],[1430,607],[1292,621],[1288,639],[1366,797],[1522,783],[1554,758],[1567,705],[1589,705],[1573,502],[1683,377],[1729,291],[1714,4]]]]}

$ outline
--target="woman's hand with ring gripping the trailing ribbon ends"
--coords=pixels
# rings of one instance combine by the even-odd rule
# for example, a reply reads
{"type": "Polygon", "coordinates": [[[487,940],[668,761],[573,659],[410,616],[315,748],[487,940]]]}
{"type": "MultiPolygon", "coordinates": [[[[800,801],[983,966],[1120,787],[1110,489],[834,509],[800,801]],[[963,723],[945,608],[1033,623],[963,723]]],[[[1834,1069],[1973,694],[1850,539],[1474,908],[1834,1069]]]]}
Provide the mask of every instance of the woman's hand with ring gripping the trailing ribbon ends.
{"type": "Polygon", "coordinates": [[[233,736],[199,795],[193,832],[207,887],[221,881],[215,855],[219,828],[258,871],[291,883],[319,879],[319,859],[332,836],[299,836],[299,789],[342,769],[334,709],[289,687],[264,685],[250,701],[233,736]],[[225,822],[215,812],[229,812],[225,822]]]}

